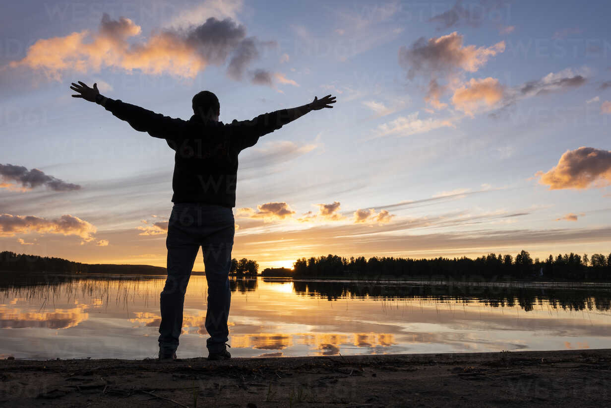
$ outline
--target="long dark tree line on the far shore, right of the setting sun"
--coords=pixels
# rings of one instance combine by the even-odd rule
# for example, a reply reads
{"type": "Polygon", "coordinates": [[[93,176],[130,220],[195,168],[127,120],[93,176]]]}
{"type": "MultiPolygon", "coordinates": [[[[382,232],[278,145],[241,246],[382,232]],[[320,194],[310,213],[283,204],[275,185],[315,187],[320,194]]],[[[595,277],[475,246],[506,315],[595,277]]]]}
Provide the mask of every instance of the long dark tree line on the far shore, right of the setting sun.
{"type": "Polygon", "coordinates": [[[444,276],[456,280],[478,276],[485,279],[543,280],[611,280],[611,254],[558,254],[543,261],[532,259],[527,251],[511,254],[488,254],[471,258],[412,259],[364,256],[345,258],[329,254],[318,258],[301,258],[295,262],[293,276],[395,276],[402,278],[431,278],[444,276]]]}

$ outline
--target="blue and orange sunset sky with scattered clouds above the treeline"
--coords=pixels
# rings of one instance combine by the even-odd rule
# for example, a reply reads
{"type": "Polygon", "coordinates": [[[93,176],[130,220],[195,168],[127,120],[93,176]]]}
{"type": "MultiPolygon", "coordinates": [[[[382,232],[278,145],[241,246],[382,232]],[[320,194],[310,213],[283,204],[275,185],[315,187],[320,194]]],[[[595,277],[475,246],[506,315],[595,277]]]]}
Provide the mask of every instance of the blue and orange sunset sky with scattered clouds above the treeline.
{"type": "MultiPolygon", "coordinates": [[[[240,154],[235,258],[611,251],[609,2],[10,2],[0,250],[165,265],[174,152],[69,85],[223,122],[333,94],[240,154]],[[596,10],[596,12],[593,12],[596,10]]],[[[195,270],[203,270],[201,256],[195,270]]]]}

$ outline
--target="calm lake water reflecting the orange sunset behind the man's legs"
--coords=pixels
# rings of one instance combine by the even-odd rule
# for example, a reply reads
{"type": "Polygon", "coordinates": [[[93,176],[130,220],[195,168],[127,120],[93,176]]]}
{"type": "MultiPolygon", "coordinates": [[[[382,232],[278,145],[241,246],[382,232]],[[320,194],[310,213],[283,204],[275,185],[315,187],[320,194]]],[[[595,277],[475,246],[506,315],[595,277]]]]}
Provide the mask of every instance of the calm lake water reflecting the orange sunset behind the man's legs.
{"type": "MultiPolygon", "coordinates": [[[[0,357],[156,357],[163,276],[0,277],[0,357]]],[[[207,355],[192,276],[178,357],[207,355]]],[[[235,357],[611,347],[611,288],[232,281],[235,357]]]]}

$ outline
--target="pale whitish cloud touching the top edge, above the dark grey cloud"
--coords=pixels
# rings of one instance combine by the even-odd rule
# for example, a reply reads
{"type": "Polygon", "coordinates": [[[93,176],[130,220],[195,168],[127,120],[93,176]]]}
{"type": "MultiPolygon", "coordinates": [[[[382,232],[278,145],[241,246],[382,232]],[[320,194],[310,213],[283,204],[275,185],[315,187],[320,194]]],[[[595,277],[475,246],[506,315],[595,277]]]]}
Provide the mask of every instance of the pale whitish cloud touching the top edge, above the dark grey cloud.
{"type": "Polygon", "coordinates": [[[164,25],[166,28],[186,28],[200,24],[210,17],[231,18],[238,21],[238,12],[243,7],[243,0],[205,0],[191,9],[181,11],[164,25]]]}

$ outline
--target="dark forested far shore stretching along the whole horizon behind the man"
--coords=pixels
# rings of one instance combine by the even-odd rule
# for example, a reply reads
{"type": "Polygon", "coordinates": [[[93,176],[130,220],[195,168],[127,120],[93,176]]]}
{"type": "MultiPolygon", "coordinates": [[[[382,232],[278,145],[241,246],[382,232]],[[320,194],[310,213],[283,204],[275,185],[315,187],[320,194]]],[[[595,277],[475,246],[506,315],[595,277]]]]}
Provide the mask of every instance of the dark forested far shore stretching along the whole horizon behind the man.
{"type": "MultiPolygon", "coordinates": [[[[233,259],[231,273],[235,276],[252,278],[257,276],[257,261],[242,258],[233,259]]],[[[15,272],[53,273],[116,273],[138,275],[164,275],[166,269],[151,265],[84,264],[62,258],[16,254],[10,251],[0,253],[0,270],[15,272]]],[[[532,259],[527,251],[515,257],[510,254],[488,254],[475,259],[434,258],[412,259],[393,257],[363,256],[345,258],[329,254],[318,258],[301,258],[293,270],[267,268],[263,276],[295,276],[299,278],[334,277],[384,277],[384,278],[451,278],[453,280],[560,280],[560,281],[611,281],[611,254],[550,255],[544,261],[532,259]]]]}

